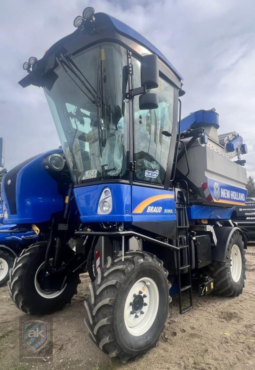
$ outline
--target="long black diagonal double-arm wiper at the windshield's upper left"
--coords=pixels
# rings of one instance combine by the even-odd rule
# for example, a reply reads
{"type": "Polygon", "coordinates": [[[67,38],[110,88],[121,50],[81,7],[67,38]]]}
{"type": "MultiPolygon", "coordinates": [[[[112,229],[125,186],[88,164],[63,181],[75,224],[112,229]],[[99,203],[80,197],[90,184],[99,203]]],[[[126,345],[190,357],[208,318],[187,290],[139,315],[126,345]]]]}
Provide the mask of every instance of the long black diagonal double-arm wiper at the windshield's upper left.
{"type": "Polygon", "coordinates": [[[58,64],[63,68],[63,70],[68,74],[68,76],[71,78],[71,80],[76,84],[76,86],[83,92],[83,94],[86,95],[86,97],[89,99],[90,102],[95,104],[96,106],[100,106],[100,98],[97,94],[97,91],[93,88],[92,84],[90,84],[89,80],[83,75],[83,73],[79,70],[77,65],[73,62],[72,59],[69,57],[66,57],[63,54],[60,54],[61,58],[56,57],[56,61],[58,64]],[[82,77],[79,76],[79,74],[76,72],[78,71],[82,77]],[[75,79],[72,77],[72,74],[77,78],[77,80],[80,81],[80,83],[86,88],[87,91],[84,91],[80,85],[75,81],[75,79]],[[90,95],[90,96],[89,96],[90,95]]]}

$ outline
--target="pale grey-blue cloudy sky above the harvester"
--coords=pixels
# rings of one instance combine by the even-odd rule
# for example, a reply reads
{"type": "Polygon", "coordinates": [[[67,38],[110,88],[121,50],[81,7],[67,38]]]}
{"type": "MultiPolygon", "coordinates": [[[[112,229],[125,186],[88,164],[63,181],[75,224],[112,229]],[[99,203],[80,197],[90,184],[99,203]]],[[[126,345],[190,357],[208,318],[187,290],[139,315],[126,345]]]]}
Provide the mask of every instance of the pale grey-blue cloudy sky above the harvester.
{"type": "Polygon", "coordinates": [[[59,146],[42,89],[21,88],[22,64],[41,58],[73,32],[73,19],[94,6],[130,24],[170,60],[184,78],[182,116],[215,107],[220,132],[236,130],[248,145],[255,176],[254,0],[8,0],[0,12],[0,136],[6,167],[59,146]]]}

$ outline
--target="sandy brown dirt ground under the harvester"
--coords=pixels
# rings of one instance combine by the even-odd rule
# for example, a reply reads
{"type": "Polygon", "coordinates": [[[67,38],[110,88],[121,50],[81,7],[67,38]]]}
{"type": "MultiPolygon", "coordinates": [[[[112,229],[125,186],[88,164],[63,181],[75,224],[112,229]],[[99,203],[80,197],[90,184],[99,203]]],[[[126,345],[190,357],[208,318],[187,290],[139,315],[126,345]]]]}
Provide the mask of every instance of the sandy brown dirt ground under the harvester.
{"type": "MultiPolygon", "coordinates": [[[[173,297],[169,319],[157,346],[136,361],[111,361],[89,339],[83,323],[84,299],[89,295],[86,275],[81,276],[72,305],[53,316],[53,361],[20,363],[18,318],[24,315],[9,298],[7,286],[0,288],[1,370],[254,370],[255,369],[255,246],[249,245],[247,280],[239,297],[194,295],[194,309],[180,315],[178,296],[173,297]]],[[[41,319],[47,321],[48,316],[41,319]]],[[[32,316],[29,316],[31,319],[32,316]]],[[[38,318],[38,317],[37,317],[38,318]]]]}

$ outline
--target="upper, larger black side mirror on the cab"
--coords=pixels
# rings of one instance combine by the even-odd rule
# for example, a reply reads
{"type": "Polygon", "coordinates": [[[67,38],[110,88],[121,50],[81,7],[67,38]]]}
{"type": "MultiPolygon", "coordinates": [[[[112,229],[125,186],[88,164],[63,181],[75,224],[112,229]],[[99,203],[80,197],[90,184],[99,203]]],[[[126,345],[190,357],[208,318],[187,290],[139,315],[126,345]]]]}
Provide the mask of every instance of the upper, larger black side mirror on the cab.
{"type": "Polygon", "coordinates": [[[159,85],[158,55],[144,55],[141,60],[141,85],[147,90],[159,85]]]}

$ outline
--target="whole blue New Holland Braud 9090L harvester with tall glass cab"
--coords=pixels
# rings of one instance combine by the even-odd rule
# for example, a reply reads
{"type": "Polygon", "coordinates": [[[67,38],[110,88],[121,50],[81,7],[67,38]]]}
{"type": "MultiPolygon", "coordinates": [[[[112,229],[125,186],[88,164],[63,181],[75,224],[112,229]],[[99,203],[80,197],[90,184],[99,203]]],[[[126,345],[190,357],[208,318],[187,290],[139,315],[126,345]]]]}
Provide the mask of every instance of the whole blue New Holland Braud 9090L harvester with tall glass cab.
{"type": "Polygon", "coordinates": [[[218,135],[215,109],[181,120],[182,76],[141,34],[92,7],[74,26],[23,65],[19,84],[44,89],[62,148],[2,181],[4,225],[49,231],[8,286],[23,312],[50,313],[88,271],[89,335],[126,361],[157,342],[171,286],[181,314],[194,290],[242,293],[246,243],[231,215],[247,196],[247,147],[218,135]]]}

